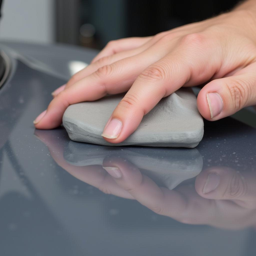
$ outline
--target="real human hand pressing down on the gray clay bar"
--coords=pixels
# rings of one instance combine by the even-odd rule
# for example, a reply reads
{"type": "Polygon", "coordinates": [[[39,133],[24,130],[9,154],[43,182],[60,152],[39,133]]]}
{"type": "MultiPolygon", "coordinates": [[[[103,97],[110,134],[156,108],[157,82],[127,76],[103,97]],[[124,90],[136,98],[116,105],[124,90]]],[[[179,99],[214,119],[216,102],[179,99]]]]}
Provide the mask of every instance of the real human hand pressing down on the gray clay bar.
{"type": "Polygon", "coordinates": [[[204,118],[215,121],[254,105],[255,24],[250,10],[238,8],[152,38],[114,42],[116,46],[106,47],[65,88],[55,91],[35,126],[57,127],[70,104],[128,91],[103,131],[106,141],[120,143],[163,97],[207,81],[197,99],[204,118]]]}

